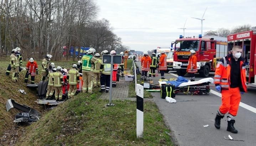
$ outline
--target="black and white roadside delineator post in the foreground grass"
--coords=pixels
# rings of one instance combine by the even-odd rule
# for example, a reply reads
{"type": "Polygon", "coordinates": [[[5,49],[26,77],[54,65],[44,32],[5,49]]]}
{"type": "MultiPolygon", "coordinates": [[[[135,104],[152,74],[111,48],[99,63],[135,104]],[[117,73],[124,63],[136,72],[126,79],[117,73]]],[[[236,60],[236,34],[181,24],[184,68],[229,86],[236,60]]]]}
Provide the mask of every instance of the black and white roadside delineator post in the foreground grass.
{"type": "Polygon", "coordinates": [[[137,138],[143,136],[143,95],[144,95],[144,87],[140,84],[137,84],[137,91],[136,91],[136,96],[137,96],[137,138]]]}

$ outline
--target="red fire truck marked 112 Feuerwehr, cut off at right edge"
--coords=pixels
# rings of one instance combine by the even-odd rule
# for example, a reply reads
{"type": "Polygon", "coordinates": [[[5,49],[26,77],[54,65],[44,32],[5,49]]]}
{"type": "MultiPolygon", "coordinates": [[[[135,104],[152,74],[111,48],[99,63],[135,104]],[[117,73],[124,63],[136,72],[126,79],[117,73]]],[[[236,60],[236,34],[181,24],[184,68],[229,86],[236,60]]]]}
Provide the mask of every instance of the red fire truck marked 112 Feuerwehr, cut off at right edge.
{"type": "Polygon", "coordinates": [[[243,48],[242,57],[246,63],[247,86],[256,87],[256,27],[235,32],[227,36],[227,47],[232,49],[234,45],[243,48]]]}

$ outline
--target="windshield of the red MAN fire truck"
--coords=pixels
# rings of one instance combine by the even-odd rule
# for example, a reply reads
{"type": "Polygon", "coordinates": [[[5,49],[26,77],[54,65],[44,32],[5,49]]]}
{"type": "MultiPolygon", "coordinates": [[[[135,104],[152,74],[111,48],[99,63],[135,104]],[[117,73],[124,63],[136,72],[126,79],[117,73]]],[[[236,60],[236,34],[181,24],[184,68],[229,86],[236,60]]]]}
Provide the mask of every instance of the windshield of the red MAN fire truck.
{"type": "Polygon", "coordinates": [[[199,40],[176,41],[175,51],[190,51],[199,49],[199,40]]]}

